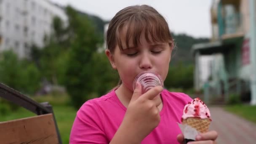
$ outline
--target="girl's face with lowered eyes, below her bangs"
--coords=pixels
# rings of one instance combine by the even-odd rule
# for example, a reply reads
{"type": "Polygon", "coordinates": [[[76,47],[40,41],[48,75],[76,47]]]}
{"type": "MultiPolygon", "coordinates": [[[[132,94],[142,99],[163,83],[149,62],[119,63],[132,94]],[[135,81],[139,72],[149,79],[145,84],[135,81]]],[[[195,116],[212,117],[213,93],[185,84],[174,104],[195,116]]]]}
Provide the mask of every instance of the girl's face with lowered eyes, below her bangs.
{"type": "MultiPolygon", "coordinates": [[[[150,38],[150,37],[149,37],[150,38]]],[[[121,37],[125,42],[125,37],[121,37]]],[[[129,45],[132,46],[132,43],[129,45]]],[[[165,80],[172,48],[169,43],[148,43],[145,35],[140,37],[138,47],[123,48],[115,47],[114,53],[106,50],[106,54],[114,69],[117,69],[123,85],[133,91],[133,80],[141,72],[157,72],[165,80]]]]}

